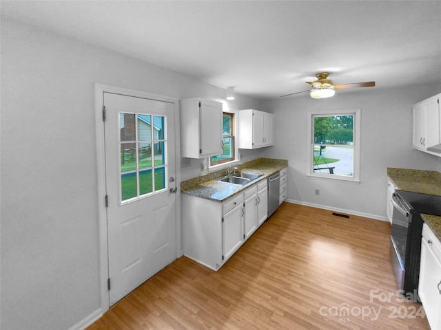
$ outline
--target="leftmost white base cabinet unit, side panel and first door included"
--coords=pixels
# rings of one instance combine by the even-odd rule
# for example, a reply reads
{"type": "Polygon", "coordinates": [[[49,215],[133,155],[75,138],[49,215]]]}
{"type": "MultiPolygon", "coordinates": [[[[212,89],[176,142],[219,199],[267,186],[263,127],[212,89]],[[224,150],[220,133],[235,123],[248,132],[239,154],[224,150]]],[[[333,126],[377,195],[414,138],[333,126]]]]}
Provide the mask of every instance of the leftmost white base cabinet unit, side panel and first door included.
{"type": "Polygon", "coordinates": [[[182,195],[182,209],[185,256],[218,270],[243,243],[243,193],[224,203],[182,195]]]}

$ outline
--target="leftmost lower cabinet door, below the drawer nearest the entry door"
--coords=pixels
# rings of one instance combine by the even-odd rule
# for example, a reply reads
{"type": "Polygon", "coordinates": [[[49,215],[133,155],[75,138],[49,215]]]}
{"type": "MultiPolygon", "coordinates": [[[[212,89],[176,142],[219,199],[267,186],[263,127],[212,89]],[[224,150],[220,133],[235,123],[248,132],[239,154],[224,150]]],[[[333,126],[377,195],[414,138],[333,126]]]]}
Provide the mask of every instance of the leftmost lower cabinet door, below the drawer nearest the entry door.
{"type": "Polygon", "coordinates": [[[223,260],[227,261],[243,243],[243,206],[233,208],[223,216],[223,260]]]}

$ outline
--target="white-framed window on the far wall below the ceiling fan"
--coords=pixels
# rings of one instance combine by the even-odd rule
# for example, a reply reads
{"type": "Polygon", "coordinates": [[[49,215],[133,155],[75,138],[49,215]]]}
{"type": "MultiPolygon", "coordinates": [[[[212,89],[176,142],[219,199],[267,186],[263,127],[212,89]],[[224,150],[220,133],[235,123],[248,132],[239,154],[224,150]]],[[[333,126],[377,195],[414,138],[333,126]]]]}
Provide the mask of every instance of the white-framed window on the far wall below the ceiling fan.
{"type": "Polygon", "coordinates": [[[360,109],[311,113],[308,175],[360,181],[360,109]]]}

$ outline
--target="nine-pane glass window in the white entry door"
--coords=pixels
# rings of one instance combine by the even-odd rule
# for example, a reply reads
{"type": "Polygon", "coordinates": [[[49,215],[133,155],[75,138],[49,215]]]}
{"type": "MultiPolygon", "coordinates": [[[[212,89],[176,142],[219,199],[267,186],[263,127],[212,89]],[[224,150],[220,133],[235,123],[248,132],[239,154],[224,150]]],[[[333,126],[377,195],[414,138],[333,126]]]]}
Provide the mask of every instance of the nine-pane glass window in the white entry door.
{"type": "Polygon", "coordinates": [[[121,201],[167,188],[165,117],[119,113],[119,128],[121,201]]]}

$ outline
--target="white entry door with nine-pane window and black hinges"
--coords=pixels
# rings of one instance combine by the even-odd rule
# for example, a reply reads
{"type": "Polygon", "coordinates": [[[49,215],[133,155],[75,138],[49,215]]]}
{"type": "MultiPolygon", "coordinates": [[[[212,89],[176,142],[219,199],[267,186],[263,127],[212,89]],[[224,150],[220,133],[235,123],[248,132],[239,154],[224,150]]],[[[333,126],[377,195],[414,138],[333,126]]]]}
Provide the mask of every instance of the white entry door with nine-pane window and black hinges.
{"type": "Polygon", "coordinates": [[[111,93],[103,102],[113,305],[176,259],[175,118],[168,102],[111,93]]]}

